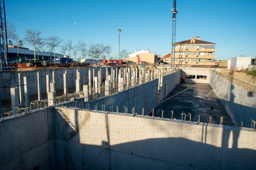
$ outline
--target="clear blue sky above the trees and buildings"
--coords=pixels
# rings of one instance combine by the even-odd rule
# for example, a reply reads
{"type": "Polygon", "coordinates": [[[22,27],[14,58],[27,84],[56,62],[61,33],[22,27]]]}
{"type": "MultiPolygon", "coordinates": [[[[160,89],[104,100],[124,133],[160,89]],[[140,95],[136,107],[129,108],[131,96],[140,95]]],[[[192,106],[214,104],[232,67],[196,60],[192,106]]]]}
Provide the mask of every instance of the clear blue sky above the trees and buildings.
{"type": "MultiPolygon", "coordinates": [[[[7,22],[17,33],[36,29],[44,37],[170,52],[172,0],[5,0],[7,22]]],[[[177,0],[176,42],[200,36],[216,43],[216,59],[256,55],[256,0],[177,0]]],[[[26,45],[28,46],[28,45],[26,45]]],[[[28,46],[29,47],[29,46],[28,46]]],[[[57,50],[59,52],[59,50],[57,50]]]]}

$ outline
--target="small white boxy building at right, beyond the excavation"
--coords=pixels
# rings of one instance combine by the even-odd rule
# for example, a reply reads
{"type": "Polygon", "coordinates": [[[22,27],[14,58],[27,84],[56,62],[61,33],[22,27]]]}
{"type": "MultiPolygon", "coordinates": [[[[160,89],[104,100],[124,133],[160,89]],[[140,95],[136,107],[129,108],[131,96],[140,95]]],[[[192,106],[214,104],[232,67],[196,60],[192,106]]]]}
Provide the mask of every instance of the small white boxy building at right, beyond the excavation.
{"type": "Polygon", "coordinates": [[[230,70],[244,70],[251,64],[251,57],[234,57],[231,58],[230,70]]]}

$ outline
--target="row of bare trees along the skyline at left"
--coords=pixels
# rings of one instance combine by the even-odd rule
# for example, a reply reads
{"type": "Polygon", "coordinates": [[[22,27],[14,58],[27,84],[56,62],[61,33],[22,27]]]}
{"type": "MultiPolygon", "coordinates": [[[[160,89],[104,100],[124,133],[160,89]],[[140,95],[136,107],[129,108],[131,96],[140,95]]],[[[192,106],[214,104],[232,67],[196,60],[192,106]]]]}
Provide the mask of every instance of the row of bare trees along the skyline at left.
{"type": "MultiPolygon", "coordinates": [[[[26,29],[25,36],[22,38],[21,41],[21,38],[16,34],[16,26],[12,23],[7,24],[7,39],[14,40],[13,45],[17,46],[18,53],[19,47],[23,46],[23,43],[20,42],[23,41],[24,43],[31,45],[34,48],[34,59],[38,58],[39,52],[45,50],[53,53],[55,58],[55,50],[58,47],[60,47],[60,52],[64,55],[66,54],[66,52],[68,52],[70,58],[74,56],[75,61],[76,56],[79,55],[79,53],[79,59],[84,59],[86,58],[86,56],[88,56],[89,59],[114,59],[114,57],[110,55],[112,53],[112,47],[110,47],[109,45],[105,46],[102,43],[87,44],[82,40],[79,40],[78,43],[73,44],[71,39],[64,41],[63,39],[55,35],[44,38],[41,31],[35,29],[26,29]],[[38,54],[35,54],[35,51],[38,51],[38,54]]],[[[118,56],[118,59],[128,58],[128,52],[126,50],[121,50],[118,56]]]]}

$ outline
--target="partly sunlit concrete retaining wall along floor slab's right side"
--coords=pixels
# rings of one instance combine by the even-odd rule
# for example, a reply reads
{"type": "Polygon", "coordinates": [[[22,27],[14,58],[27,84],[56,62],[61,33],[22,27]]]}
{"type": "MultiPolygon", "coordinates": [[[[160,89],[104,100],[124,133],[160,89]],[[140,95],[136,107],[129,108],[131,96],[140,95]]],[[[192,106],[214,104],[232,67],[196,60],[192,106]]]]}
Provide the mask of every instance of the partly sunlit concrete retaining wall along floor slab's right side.
{"type": "Polygon", "coordinates": [[[231,119],[234,118],[233,123],[239,126],[242,120],[243,126],[251,127],[250,119],[256,120],[256,96],[212,71],[209,84],[227,114],[231,119]]]}

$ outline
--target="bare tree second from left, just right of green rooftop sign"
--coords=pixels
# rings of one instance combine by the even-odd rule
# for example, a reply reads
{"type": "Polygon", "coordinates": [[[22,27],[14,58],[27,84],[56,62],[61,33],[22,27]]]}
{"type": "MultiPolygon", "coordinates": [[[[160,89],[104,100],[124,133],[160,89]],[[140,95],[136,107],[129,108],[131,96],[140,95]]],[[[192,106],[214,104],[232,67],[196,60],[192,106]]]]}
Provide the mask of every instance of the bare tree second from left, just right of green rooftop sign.
{"type": "Polygon", "coordinates": [[[24,41],[31,44],[34,47],[34,59],[35,59],[35,46],[43,41],[40,31],[34,29],[27,29],[24,37],[24,41]]]}

